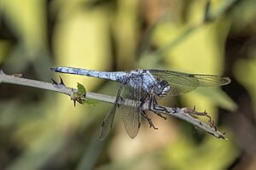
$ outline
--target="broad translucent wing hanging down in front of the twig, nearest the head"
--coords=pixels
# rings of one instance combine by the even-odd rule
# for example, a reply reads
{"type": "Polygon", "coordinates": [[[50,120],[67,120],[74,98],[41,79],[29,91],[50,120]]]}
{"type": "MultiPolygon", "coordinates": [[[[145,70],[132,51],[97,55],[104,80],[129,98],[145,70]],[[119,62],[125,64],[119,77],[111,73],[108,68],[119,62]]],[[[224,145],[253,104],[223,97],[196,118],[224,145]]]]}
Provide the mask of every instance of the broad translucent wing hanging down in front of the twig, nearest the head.
{"type": "Polygon", "coordinates": [[[119,111],[122,113],[125,131],[134,139],[137,136],[141,115],[139,111],[140,99],[142,94],[143,80],[142,77],[130,78],[127,85],[125,85],[122,97],[124,99],[131,99],[129,105],[120,105],[119,111]],[[129,84],[133,84],[131,87],[129,84]]]}

